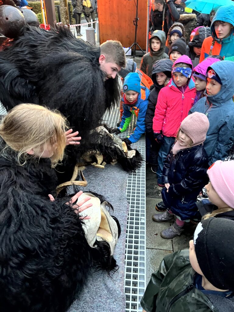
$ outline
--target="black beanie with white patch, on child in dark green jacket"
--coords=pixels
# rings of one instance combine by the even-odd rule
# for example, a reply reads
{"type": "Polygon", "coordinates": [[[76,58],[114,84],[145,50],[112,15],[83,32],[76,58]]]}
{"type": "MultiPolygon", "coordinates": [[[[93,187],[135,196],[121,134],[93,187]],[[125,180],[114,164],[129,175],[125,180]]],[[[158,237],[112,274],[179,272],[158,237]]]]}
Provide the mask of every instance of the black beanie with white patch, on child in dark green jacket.
{"type": "Polygon", "coordinates": [[[194,232],[197,261],[215,287],[234,291],[234,221],[225,218],[202,220],[194,232]]]}

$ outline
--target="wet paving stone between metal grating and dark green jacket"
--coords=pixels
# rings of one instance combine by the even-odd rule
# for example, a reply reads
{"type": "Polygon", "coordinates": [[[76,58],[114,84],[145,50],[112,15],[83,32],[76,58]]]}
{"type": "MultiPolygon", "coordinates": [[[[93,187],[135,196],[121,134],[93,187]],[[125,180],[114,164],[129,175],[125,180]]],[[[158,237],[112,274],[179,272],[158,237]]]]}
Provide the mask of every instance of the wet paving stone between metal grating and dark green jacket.
{"type": "Polygon", "coordinates": [[[172,253],[170,250],[146,249],[146,285],[151,274],[156,271],[165,256],[172,253]]]}

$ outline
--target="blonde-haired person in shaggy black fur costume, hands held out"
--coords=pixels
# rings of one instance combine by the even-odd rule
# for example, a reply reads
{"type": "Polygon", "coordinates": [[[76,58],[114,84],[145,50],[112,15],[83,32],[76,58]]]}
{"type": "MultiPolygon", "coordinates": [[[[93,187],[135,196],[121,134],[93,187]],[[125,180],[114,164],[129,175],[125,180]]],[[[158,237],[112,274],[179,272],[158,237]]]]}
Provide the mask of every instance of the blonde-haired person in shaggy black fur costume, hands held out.
{"type": "MultiPolygon", "coordinates": [[[[90,268],[82,192],[55,197],[52,168],[78,143],[58,112],[15,106],[0,124],[0,305],[9,311],[65,312],[90,268]],[[66,132],[65,132],[66,131],[66,132]],[[76,204],[75,204],[76,203],[76,204]],[[76,213],[75,213],[76,212],[76,213]]],[[[88,217],[87,217],[88,218],[88,217]]]]}

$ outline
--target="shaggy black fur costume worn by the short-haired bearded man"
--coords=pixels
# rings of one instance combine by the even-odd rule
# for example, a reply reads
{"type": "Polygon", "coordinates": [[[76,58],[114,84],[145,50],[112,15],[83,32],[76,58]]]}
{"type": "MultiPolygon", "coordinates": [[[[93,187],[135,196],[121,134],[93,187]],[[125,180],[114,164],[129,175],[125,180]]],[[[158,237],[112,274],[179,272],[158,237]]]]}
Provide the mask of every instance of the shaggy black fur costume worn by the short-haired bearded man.
{"type": "MultiPolygon", "coordinates": [[[[71,178],[73,168],[87,150],[110,149],[110,140],[97,140],[90,130],[119,100],[118,78],[104,81],[99,65],[100,48],[76,39],[68,27],[45,31],[26,26],[21,34],[0,51],[0,101],[9,110],[20,103],[34,103],[58,109],[70,127],[79,131],[80,145],[67,147],[65,168],[59,182],[71,178]],[[97,144],[98,141],[98,144],[97,144]]],[[[112,142],[112,154],[119,158],[112,142]]],[[[129,148],[130,149],[130,148],[129,148]]],[[[119,161],[119,159],[118,159],[119,161]]],[[[141,165],[142,157],[119,161],[127,171],[141,165]]]]}

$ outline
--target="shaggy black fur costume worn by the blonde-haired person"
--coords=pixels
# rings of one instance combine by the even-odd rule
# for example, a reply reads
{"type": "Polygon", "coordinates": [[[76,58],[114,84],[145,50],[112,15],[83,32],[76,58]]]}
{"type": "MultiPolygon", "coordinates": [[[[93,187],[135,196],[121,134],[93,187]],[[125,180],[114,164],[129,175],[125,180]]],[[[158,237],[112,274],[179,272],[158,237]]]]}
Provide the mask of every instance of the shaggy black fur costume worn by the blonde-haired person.
{"type": "Polygon", "coordinates": [[[67,198],[49,201],[57,183],[48,159],[20,166],[12,150],[7,155],[0,156],[0,310],[65,312],[105,252],[104,266],[116,262],[105,246],[98,254],[88,245],[67,198]]]}

